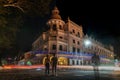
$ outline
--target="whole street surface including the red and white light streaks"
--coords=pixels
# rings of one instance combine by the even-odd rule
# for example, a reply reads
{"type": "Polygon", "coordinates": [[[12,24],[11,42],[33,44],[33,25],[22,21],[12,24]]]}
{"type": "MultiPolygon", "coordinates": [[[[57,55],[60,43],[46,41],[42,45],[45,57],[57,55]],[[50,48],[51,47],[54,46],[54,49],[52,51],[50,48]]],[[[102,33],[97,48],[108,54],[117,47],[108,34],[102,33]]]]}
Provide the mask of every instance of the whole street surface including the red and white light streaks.
{"type": "MultiPolygon", "coordinates": [[[[114,67],[99,67],[101,71],[107,70],[102,71],[100,77],[94,76],[94,72],[91,71],[92,66],[58,66],[57,76],[44,75],[44,66],[34,65],[30,66],[31,69],[27,67],[21,66],[20,69],[20,66],[18,68],[6,66],[5,70],[0,70],[0,80],[120,80],[120,78],[114,79],[111,76],[111,70],[114,70],[114,67]]],[[[116,70],[118,70],[116,74],[120,74],[119,68],[116,70]]],[[[117,77],[116,74],[115,77],[117,77]]]]}

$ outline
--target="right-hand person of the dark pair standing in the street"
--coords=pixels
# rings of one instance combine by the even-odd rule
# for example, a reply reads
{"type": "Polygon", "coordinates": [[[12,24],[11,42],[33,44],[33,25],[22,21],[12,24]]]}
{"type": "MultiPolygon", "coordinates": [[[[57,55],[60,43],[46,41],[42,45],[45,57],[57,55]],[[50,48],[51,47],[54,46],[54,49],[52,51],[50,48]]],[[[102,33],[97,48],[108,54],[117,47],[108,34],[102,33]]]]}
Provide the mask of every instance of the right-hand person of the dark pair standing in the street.
{"type": "Polygon", "coordinates": [[[57,76],[57,62],[58,62],[58,58],[56,56],[56,54],[53,54],[53,57],[51,59],[51,64],[52,64],[52,74],[57,76]]]}

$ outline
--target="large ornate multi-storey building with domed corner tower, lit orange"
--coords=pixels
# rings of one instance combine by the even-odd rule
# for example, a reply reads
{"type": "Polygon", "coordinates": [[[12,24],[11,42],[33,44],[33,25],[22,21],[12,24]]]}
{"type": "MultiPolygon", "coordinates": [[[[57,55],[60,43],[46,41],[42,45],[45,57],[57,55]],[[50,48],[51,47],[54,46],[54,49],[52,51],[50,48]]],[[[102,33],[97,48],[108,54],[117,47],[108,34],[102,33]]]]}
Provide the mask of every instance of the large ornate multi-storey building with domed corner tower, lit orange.
{"type": "Polygon", "coordinates": [[[49,29],[43,32],[32,44],[32,53],[36,54],[39,63],[44,64],[45,55],[57,54],[58,65],[90,65],[91,56],[96,53],[102,64],[111,64],[114,59],[112,46],[105,47],[100,42],[84,35],[82,26],[69,18],[64,22],[59,10],[54,7],[47,21],[49,29]],[[85,40],[91,44],[85,45],[85,40]]]}

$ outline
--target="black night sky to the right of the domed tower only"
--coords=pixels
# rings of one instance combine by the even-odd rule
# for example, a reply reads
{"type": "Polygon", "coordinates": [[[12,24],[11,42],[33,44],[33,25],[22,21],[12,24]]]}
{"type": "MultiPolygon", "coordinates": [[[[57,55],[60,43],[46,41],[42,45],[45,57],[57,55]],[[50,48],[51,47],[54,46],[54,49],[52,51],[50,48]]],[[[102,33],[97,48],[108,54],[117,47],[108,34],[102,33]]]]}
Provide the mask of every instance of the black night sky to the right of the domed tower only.
{"type": "Polygon", "coordinates": [[[83,25],[85,34],[103,44],[112,44],[115,53],[120,49],[120,5],[114,1],[57,0],[56,5],[63,20],[69,16],[83,25]]]}

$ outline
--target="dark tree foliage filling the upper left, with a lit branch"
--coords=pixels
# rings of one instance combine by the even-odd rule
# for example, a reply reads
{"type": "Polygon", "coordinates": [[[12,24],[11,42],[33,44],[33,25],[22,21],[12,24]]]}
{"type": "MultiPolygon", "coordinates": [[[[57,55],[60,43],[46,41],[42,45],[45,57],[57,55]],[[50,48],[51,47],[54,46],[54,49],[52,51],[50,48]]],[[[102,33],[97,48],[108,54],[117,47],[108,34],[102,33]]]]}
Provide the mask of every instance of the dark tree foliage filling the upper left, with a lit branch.
{"type": "Polygon", "coordinates": [[[26,16],[48,14],[51,2],[52,0],[0,0],[0,54],[16,47],[16,33],[24,26],[26,16]]]}

